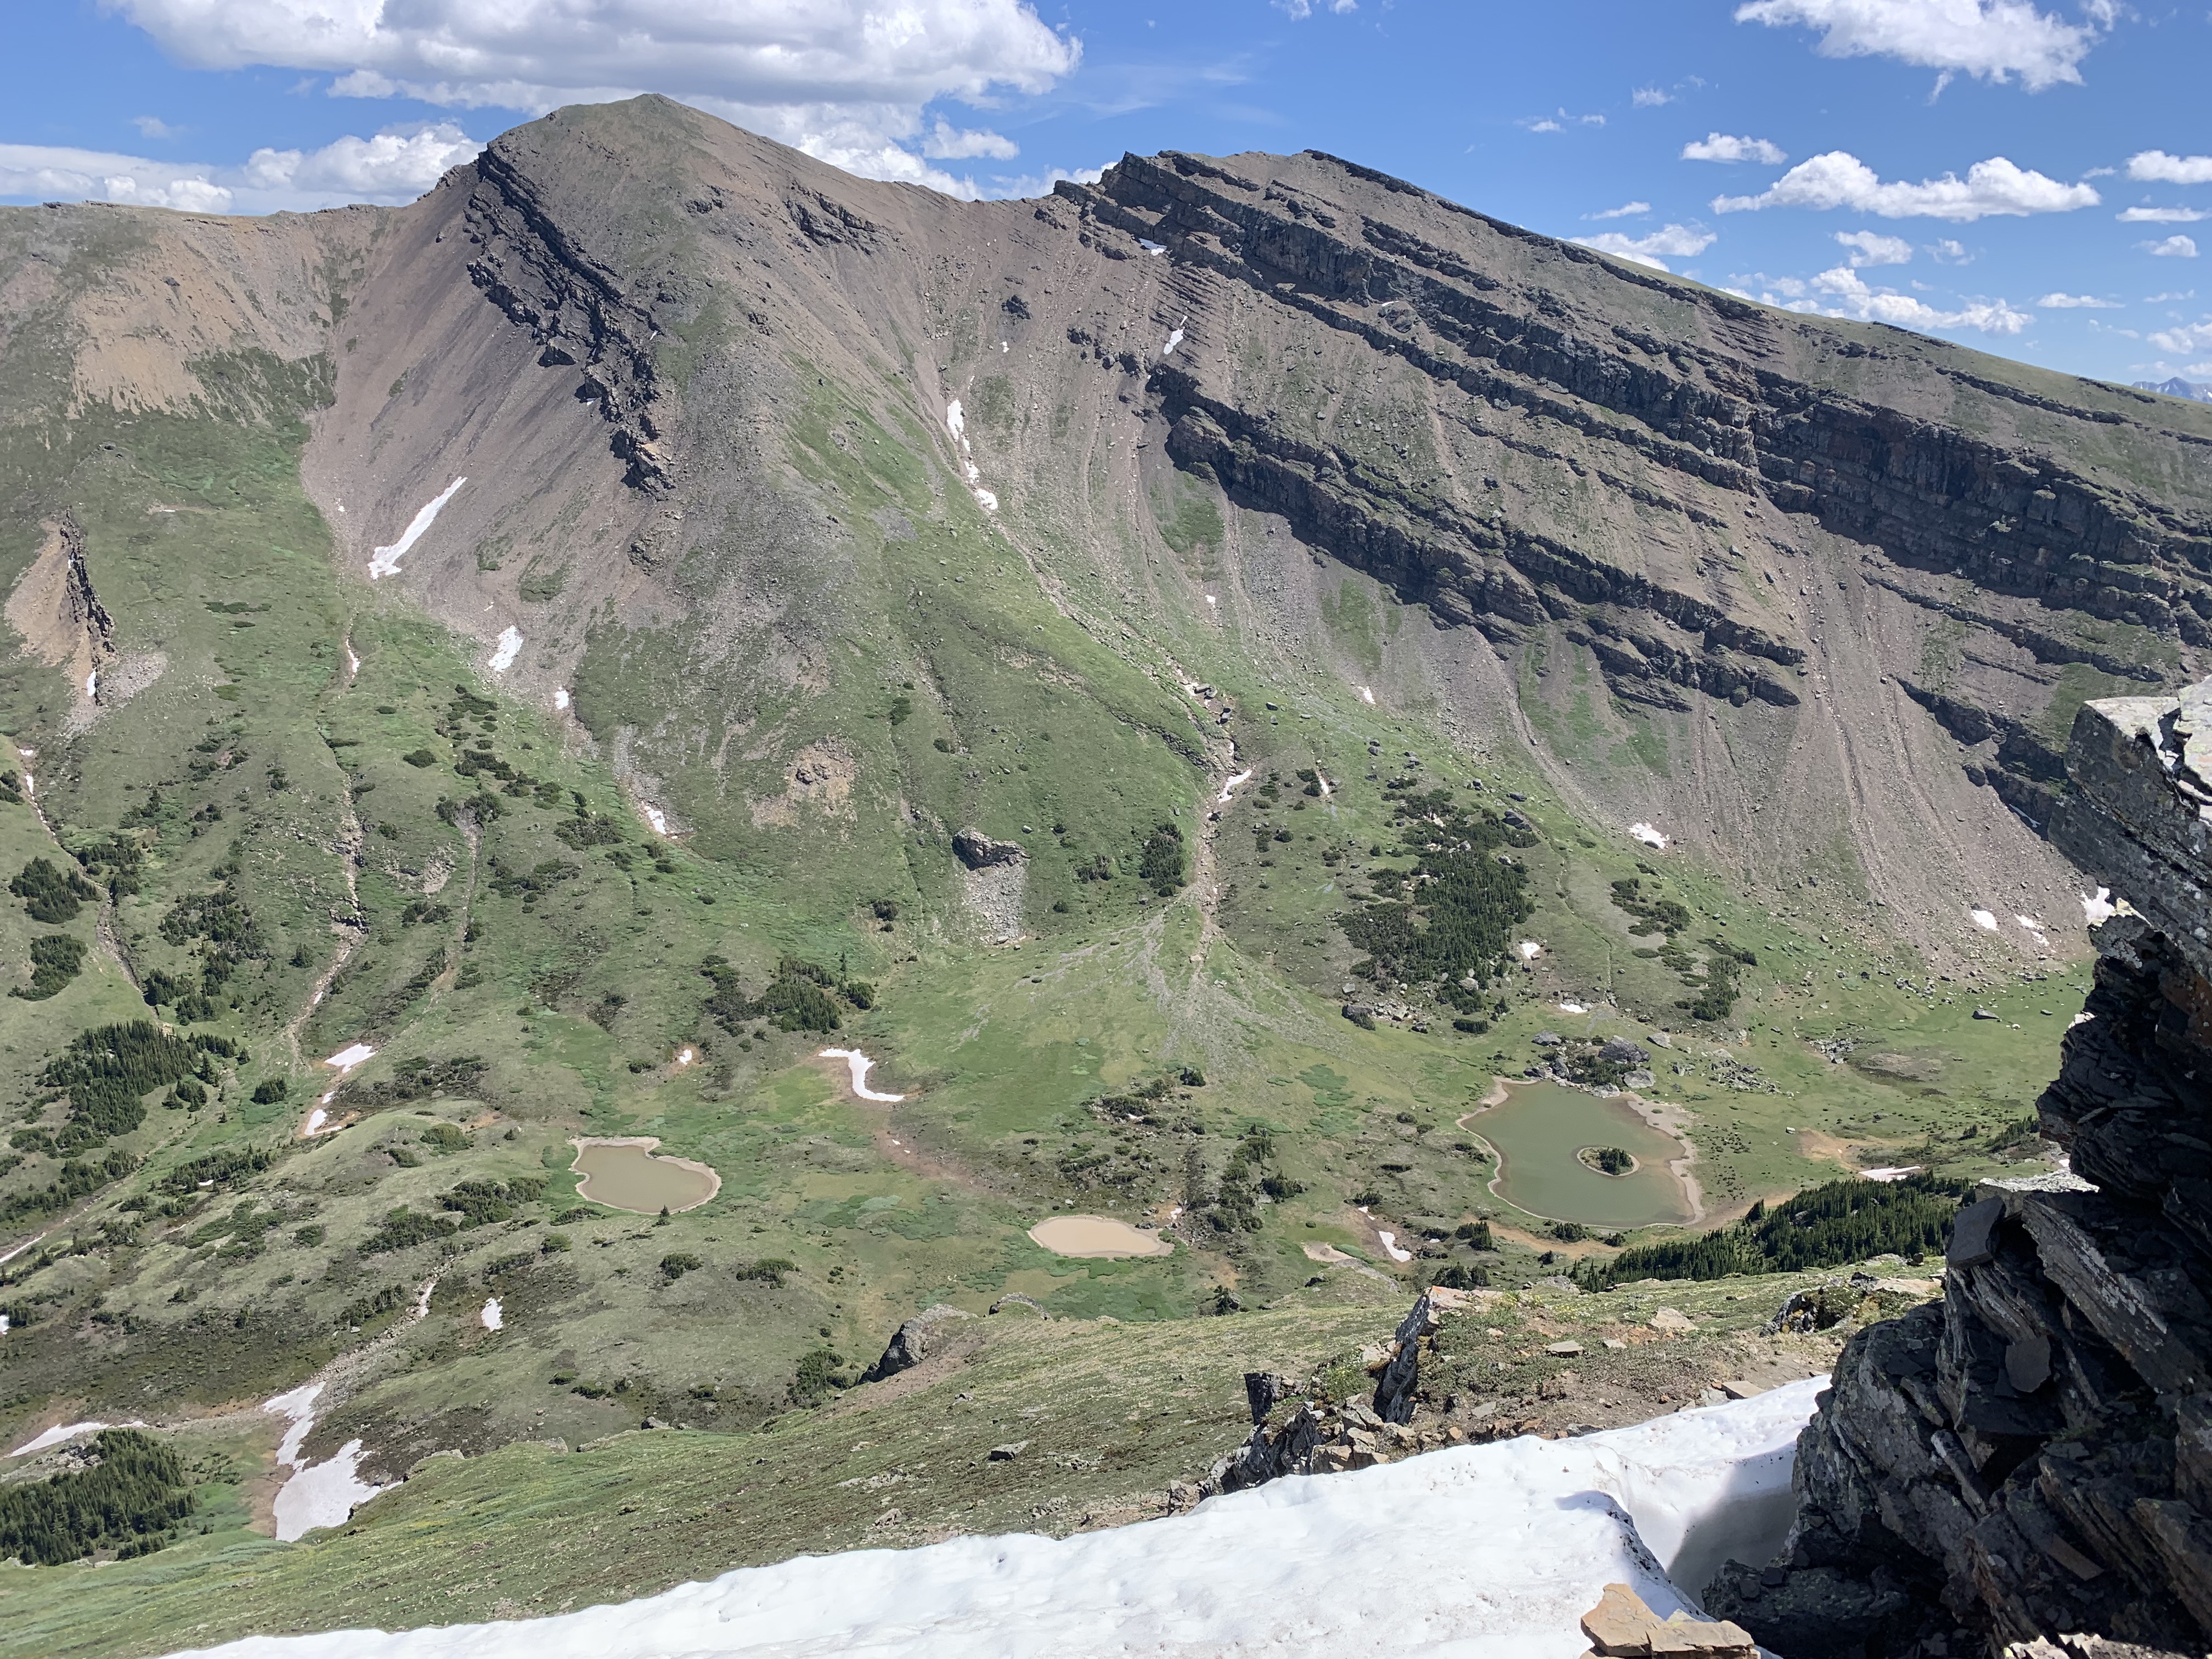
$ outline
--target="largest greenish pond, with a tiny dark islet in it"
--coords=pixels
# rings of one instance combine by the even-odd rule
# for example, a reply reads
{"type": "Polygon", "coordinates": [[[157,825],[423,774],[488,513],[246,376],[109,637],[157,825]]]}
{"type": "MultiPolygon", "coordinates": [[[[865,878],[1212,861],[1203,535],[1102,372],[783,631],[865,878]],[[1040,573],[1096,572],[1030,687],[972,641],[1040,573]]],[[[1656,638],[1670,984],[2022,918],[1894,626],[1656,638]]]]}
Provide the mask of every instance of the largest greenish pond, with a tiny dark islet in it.
{"type": "Polygon", "coordinates": [[[1646,1228],[1694,1214],[1681,1177],[1668,1168],[1686,1155],[1683,1144],[1621,1099],[1548,1082],[1506,1084],[1504,1104],[1475,1113],[1467,1126],[1498,1150],[1491,1190],[1531,1214],[1586,1228],[1646,1228]],[[1619,1148],[1635,1168],[1604,1175],[1582,1159],[1584,1148],[1619,1148]]]}

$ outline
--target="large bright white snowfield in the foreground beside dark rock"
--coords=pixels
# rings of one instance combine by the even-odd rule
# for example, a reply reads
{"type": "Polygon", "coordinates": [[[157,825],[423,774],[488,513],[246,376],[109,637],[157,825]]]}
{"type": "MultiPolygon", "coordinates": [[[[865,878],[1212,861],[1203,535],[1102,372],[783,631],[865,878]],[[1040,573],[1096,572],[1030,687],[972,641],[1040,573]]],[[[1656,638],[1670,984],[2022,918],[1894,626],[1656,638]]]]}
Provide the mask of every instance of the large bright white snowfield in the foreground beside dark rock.
{"type": "Polygon", "coordinates": [[[805,1555],[553,1619],[250,1637],[223,1659],[1573,1659],[1610,1582],[1659,1615],[1790,1524],[1827,1378],[1582,1440],[1281,1480],[1110,1533],[805,1555]],[[1632,1520],[1630,1520],[1632,1517],[1632,1520]]]}

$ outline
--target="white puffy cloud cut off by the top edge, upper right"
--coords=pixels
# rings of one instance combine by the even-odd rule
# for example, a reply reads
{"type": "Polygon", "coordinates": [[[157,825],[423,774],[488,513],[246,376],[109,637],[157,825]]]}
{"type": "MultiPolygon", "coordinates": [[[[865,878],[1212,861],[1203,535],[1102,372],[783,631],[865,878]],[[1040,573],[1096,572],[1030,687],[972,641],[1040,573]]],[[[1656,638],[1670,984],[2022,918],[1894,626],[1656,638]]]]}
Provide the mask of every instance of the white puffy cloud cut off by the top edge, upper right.
{"type": "Polygon", "coordinates": [[[1951,75],[2008,82],[2039,93],[2081,80],[2081,60],[2112,18],[2090,0],[2086,22],[2031,0],[1750,0],[1736,22],[1820,31],[1823,58],[1898,58],[1951,75]]]}

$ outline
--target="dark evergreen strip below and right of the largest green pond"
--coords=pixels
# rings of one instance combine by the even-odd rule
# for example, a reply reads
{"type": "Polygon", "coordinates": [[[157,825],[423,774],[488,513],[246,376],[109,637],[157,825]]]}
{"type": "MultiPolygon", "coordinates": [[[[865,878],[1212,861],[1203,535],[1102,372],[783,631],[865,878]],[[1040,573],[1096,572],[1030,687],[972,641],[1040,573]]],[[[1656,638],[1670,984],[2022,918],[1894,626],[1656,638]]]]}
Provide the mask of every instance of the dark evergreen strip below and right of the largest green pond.
{"type": "Polygon", "coordinates": [[[1951,1237],[1951,1217],[1966,1190],[1966,1181],[1938,1175],[1909,1175],[1902,1181],[1847,1175],[1807,1188],[1772,1210],[1754,1203],[1750,1214],[1719,1232],[1637,1245],[1613,1261],[1590,1259],[1575,1279],[1584,1290],[1613,1290],[1637,1279],[1787,1274],[1891,1252],[1922,1256],[1951,1237]]]}

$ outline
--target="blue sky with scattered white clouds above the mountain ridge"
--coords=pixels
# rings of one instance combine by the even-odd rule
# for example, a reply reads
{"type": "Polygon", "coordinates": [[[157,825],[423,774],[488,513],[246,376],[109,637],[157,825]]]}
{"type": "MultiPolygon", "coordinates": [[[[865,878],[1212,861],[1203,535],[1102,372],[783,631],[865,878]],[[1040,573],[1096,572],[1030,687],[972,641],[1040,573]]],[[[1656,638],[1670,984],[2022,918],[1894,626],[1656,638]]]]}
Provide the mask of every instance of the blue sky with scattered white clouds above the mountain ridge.
{"type": "Polygon", "coordinates": [[[0,46],[11,201],[405,201],[664,91],[962,195],[1312,146],[1770,303],[2212,380],[2212,0],[0,0],[0,46]]]}

